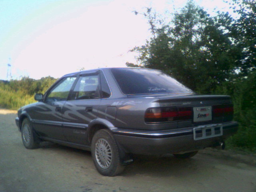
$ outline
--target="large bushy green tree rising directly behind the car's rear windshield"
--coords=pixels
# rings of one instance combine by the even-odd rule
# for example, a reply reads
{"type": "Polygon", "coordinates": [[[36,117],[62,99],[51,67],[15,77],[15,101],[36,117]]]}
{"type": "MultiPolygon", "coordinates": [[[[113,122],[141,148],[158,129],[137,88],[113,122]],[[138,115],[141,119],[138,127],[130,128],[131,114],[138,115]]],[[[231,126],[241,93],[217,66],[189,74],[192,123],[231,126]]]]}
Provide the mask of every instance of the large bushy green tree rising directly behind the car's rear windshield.
{"type": "Polygon", "coordinates": [[[232,22],[228,14],[210,17],[189,1],[171,21],[164,22],[151,10],[148,8],[144,15],[153,37],[132,50],[139,52],[142,65],[164,70],[198,92],[211,92],[230,78],[234,73],[233,55],[239,50],[222,26],[232,22]]]}

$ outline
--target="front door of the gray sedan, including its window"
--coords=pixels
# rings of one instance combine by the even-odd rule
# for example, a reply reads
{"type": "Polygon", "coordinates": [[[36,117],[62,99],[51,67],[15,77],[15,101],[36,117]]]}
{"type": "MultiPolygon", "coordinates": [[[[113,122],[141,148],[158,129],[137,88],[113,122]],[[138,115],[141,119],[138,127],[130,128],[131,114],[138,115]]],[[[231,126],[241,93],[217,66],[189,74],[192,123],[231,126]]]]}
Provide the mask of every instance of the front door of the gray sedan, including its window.
{"type": "Polygon", "coordinates": [[[44,101],[38,102],[33,110],[33,123],[40,136],[66,140],[62,127],[62,110],[75,80],[75,76],[62,78],[46,93],[44,101]]]}

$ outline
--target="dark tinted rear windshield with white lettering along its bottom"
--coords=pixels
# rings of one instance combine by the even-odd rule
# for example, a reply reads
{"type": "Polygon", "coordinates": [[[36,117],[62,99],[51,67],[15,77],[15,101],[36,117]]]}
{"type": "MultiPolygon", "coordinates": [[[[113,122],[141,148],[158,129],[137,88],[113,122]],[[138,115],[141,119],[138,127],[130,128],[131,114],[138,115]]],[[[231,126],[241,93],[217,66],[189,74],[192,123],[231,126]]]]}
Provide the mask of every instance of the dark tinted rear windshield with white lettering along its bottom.
{"type": "Polygon", "coordinates": [[[192,93],[159,70],[112,68],[111,72],[124,94],[192,93]]]}

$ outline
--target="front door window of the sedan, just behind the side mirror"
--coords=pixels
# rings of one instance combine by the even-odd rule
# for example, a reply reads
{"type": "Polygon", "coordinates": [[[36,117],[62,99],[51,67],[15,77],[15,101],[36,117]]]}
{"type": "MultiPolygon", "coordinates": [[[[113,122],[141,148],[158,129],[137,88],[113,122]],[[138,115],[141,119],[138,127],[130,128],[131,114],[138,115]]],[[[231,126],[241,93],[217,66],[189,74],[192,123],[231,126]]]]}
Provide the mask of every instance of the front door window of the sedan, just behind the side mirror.
{"type": "Polygon", "coordinates": [[[68,77],[62,80],[57,86],[55,86],[48,94],[46,101],[63,101],[68,99],[68,94],[76,77],[68,77]]]}

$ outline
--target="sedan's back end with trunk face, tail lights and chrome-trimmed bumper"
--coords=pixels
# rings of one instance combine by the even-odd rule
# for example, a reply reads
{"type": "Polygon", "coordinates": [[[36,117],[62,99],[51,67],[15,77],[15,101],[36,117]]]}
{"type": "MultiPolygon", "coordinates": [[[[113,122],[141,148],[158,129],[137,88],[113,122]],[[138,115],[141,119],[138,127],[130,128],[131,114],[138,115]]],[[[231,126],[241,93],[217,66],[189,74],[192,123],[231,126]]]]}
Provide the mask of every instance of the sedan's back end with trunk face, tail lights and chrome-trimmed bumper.
{"type": "Polygon", "coordinates": [[[180,96],[157,102],[159,107],[144,111],[144,124],[148,129],[113,130],[126,151],[185,153],[218,146],[237,131],[229,96],[180,96]]]}

